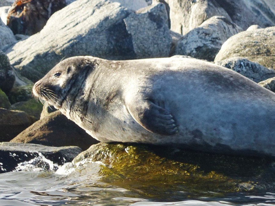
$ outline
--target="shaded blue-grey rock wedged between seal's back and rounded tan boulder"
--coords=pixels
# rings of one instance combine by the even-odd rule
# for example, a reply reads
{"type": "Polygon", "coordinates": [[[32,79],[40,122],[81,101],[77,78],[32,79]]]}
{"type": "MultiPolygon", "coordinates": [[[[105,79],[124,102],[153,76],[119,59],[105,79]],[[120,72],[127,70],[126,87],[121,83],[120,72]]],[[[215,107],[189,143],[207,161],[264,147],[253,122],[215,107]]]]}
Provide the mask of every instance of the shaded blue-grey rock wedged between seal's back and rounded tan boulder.
{"type": "Polygon", "coordinates": [[[232,69],[257,83],[275,77],[274,69],[268,69],[259,63],[251,62],[244,58],[232,57],[216,63],[220,66],[232,69]]]}

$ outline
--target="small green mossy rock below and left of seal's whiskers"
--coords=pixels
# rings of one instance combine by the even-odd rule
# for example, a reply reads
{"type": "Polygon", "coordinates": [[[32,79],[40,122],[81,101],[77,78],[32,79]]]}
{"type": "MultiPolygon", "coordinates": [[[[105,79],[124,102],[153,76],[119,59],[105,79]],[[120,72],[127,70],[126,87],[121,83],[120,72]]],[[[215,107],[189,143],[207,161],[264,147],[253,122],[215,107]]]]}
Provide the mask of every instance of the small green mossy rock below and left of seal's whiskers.
{"type": "Polygon", "coordinates": [[[11,106],[11,109],[24,111],[28,115],[34,116],[37,120],[39,120],[43,105],[36,99],[30,99],[25,102],[17,102],[13,104],[11,106]]]}

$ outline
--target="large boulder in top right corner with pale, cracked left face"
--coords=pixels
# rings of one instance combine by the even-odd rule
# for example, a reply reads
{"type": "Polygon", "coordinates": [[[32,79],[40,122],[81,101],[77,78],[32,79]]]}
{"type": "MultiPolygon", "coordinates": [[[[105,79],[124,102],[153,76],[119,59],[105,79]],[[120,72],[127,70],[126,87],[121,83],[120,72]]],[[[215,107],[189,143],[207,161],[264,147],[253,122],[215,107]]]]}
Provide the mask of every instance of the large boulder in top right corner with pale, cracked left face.
{"type": "Polygon", "coordinates": [[[265,0],[165,1],[170,7],[171,30],[180,34],[186,34],[212,16],[225,16],[243,30],[253,24],[262,28],[275,25],[275,15],[265,0]]]}

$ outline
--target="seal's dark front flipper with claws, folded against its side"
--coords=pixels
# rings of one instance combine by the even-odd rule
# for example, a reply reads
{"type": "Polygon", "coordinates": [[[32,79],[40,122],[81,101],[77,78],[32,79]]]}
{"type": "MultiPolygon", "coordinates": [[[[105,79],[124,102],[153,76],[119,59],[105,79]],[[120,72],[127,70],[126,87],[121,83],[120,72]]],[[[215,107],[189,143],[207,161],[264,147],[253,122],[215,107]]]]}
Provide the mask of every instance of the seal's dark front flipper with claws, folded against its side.
{"type": "Polygon", "coordinates": [[[134,120],[150,132],[160,135],[173,135],[178,132],[173,116],[165,108],[149,100],[126,106],[134,120]]]}

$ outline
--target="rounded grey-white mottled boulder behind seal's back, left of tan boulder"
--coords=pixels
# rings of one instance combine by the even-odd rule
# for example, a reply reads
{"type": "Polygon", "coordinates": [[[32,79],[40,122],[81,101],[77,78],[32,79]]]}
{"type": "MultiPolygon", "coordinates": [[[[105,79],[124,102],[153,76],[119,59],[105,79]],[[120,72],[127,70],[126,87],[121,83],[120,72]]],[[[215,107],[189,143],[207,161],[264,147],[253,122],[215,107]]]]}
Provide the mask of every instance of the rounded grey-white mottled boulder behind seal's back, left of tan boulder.
{"type": "Polygon", "coordinates": [[[222,44],[242,29],[224,16],[213,16],[178,41],[175,53],[213,61],[222,44]]]}

